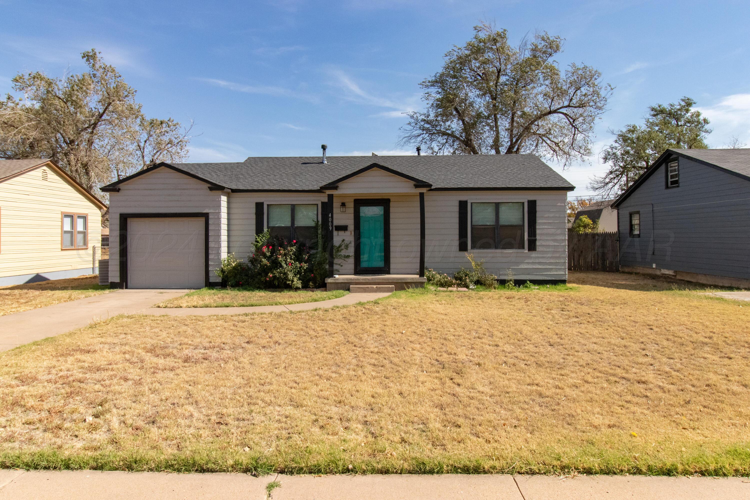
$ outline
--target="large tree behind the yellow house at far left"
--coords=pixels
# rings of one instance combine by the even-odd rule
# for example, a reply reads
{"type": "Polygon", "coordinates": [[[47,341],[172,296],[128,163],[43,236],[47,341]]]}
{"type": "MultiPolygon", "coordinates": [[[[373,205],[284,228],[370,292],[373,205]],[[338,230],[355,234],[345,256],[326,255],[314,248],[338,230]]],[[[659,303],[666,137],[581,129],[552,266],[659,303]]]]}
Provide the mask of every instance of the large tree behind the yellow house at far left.
{"type": "Polygon", "coordinates": [[[51,158],[86,188],[118,173],[187,155],[189,128],[147,119],[136,91],[96,50],[82,54],[87,71],[58,79],[18,74],[0,99],[0,158],[51,158]]]}

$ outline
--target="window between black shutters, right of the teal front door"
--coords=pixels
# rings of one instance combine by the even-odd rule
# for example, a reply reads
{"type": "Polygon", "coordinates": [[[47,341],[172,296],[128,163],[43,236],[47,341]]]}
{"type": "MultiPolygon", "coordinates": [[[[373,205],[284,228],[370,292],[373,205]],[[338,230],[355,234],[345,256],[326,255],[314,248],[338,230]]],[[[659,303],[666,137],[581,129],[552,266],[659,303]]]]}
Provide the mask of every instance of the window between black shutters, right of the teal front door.
{"type": "Polygon", "coordinates": [[[471,248],[523,248],[523,203],[472,203],[471,248]]]}

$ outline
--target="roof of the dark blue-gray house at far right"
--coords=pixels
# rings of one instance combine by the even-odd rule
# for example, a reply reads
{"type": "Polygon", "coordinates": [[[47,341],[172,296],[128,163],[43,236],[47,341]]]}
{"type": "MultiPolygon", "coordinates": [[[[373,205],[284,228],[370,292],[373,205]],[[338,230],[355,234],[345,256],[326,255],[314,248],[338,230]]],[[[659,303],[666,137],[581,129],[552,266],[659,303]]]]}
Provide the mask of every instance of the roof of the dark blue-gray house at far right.
{"type": "Polygon", "coordinates": [[[635,179],[635,182],[629,188],[619,195],[619,198],[612,203],[612,208],[617,208],[622,204],[633,191],[640,187],[643,182],[646,182],[646,179],[658,167],[661,167],[664,161],[673,158],[673,156],[682,156],[682,158],[696,161],[706,165],[706,167],[712,167],[741,179],[750,180],[750,149],[667,149],[645,172],[640,174],[640,177],[635,179]]]}

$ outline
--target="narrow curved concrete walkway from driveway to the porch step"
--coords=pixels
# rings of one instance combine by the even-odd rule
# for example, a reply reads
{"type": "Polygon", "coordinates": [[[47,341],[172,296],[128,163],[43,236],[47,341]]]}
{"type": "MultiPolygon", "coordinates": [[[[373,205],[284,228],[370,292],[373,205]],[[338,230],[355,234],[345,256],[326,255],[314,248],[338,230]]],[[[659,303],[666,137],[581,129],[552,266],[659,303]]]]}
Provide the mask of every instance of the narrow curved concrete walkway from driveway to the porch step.
{"type": "Polygon", "coordinates": [[[211,315],[243,315],[248,312],[287,312],[310,311],[311,309],[326,309],[336,306],[351,306],[356,303],[370,302],[382,299],[390,294],[347,294],[338,299],[320,300],[320,302],[305,302],[302,304],[287,304],[286,306],[253,306],[253,307],[152,307],[141,311],[141,314],[154,316],[211,316],[211,315]]]}

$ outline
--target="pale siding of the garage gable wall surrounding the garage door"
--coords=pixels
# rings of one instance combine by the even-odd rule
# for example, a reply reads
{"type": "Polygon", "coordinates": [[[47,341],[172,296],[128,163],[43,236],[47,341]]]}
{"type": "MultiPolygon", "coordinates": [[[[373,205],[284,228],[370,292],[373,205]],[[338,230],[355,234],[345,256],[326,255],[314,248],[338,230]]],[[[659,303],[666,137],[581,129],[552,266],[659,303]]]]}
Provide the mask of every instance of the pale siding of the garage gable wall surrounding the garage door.
{"type": "Polygon", "coordinates": [[[208,213],[208,269],[211,282],[219,281],[214,270],[220,265],[226,234],[223,202],[226,194],[208,191],[205,182],[169,168],[158,168],[120,185],[110,194],[110,282],[120,281],[119,222],[121,213],[208,213]]]}

